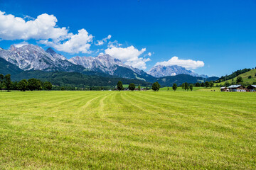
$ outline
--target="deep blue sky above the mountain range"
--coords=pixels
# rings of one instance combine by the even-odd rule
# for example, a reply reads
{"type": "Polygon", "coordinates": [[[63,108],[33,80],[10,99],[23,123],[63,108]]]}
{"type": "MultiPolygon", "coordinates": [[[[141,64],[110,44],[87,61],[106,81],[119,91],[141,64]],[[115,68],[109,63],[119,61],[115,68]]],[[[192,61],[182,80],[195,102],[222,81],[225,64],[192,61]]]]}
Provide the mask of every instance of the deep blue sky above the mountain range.
{"type": "Polygon", "coordinates": [[[80,50],[68,51],[70,46],[61,45],[70,40],[68,35],[59,40],[58,45],[55,45],[56,38],[46,38],[46,35],[21,38],[14,33],[11,38],[6,38],[1,36],[4,28],[0,23],[0,47],[5,49],[25,41],[44,49],[51,46],[56,50],[59,47],[58,52],[68,58],[110,52],[122,62],[145,70],[157,62],[170,64],[166,61],[177,56],[181,65],[209,76],[256,67],[256,1],[0,0],[0,11],[24,21],[34,21],[43,13],[53,15],[58,19],[55,28],[65,27],[66,32],[73,35],[78,34],[78,30],[86,30],[85,44],[90,45],[89,48],[82,46],[87,51],[81,47],[80,50]],[[107,39],[108,35],[111,35],[110,39],[107,39]],[[95,45],[103,38],[106,38],[103,45],[95,45]],[[112,46],[108,44],[115,40],[117,43],[112,46]],[[134,58],[129,60],[122,52],[134,58]],[[201,61],[204,66],[201,62],[190,66],[189,60],[201,61]]]}

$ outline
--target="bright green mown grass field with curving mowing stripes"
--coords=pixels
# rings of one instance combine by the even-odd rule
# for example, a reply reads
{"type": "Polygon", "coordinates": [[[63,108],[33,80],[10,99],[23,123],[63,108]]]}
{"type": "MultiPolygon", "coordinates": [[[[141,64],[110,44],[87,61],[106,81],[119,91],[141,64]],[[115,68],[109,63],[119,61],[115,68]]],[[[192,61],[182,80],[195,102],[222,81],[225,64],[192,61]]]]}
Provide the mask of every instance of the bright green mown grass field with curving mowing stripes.
{"type": "Polygon", "coordinates": [[[0,92],[0,169],[256,169],[256,94],[0,92]]]}

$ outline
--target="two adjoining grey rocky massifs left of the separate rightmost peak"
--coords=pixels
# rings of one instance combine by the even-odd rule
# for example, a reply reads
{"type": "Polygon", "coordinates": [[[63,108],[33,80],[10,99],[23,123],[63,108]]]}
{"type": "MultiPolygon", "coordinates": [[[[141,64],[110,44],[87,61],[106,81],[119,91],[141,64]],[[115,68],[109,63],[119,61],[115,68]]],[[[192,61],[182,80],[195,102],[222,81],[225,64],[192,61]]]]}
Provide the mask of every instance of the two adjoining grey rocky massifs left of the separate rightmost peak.
{"type": "Polygon", "coordinates": [[[73,57],[70,60],[56,53],[52,48],[43,50],[37,45],[23,45],[9,50],[0,48],[0,58],[15,64],[22,70],[42,70],[46,72],[99,72],[127,79],[144,79],[151,77],[144,71],[123,64],[110,55],[97,57],[73,57]],[[123,71],[123,72],[122,72],[123,71]]]}

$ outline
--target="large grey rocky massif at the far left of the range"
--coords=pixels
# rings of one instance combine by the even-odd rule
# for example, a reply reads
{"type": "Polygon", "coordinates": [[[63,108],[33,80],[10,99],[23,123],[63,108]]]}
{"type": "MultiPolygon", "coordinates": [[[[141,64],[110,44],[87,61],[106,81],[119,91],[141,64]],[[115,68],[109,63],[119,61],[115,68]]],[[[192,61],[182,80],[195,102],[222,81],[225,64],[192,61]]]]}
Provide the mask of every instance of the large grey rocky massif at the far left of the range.
{"type": "Polygon", "coordinates": [[[69,62],[52,49],[45,51],[37,45],[23,45],[22,47],[11,45],[10,50],[0,49],[0,58],[23,70],[44,70],[48,72],[82,72],[84,70],[83,67],[69,62]]]}

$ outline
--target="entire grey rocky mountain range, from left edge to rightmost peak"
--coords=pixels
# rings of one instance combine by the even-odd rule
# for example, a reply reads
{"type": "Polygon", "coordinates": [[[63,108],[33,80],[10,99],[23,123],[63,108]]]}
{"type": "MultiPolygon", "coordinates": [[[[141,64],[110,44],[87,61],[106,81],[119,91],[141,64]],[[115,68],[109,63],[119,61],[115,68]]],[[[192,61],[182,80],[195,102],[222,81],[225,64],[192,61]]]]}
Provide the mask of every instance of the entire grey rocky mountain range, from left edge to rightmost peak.
{"type": "Polygon", "coordinates": [[[22,71],[78,72],[87,75],[122,77],[147,82],[156,81],[159,77],[178,74],[199,77],[198,74],[178,66],[156,66],[146,73],[143,70],[123,64],[120,60],[110,55],[100,55],[97,57],[77,56],[68,60],[63,55],[56,53],[52,48],[48,48],[45,51],[37,45],[23,45],[22,47],[11,45],[9,50],[0,48],[0,58],[4,60],[1,62],[4,64],[3,68],[7,69],[9,66],[17,67],[16,70],[22,71]]]}

